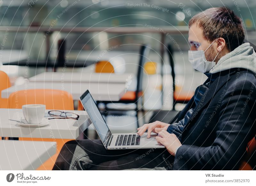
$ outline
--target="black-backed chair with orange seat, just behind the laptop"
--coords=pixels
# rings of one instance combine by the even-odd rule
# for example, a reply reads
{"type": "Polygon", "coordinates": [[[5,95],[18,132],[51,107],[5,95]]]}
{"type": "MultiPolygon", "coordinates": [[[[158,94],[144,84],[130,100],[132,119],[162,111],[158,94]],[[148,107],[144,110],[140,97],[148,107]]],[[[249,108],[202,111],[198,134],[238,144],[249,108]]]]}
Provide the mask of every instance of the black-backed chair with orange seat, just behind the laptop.
{"type": "MultiPolygon", "coordinates": [[[[146,62],[146,59],[149,55],[150,48],[142,44],[140,48],[140,59],[139,59],[139,67],[137,72],[137,87],[135,91],[127,91],[124,96],[119,101],[97,101],[97,105],[100,103],[105,104],[105,107],[108,111],[129,111],[129,110],[135,110],[136,111],[136,117],[138,119],[138,112],[144,111],[143,108],[139,108],[139,103],[142,102],[142,79],[143,79],[143,66],[146,62]],[[124,104],[130,104],[134,103],[136,105],[136,108],[134,109],[120,109],[120,108],[108,108],[107,104],[109,103],[124,103],[124,104]]],[[[101,109],[101,108],[99,108],[101,109]]],[[[139,127],[139,121],[137,120],[137,125],[139,127]]]]}

